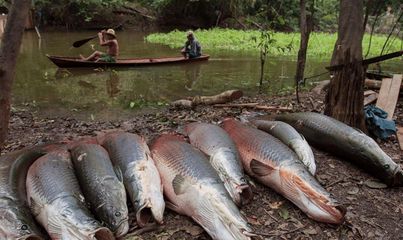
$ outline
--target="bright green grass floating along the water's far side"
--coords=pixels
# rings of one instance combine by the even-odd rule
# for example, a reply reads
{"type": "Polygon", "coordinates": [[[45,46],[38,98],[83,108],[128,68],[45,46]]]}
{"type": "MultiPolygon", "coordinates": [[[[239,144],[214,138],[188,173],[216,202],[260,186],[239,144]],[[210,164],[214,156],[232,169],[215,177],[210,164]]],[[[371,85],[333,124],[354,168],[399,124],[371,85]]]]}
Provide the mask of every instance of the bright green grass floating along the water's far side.
{"type": "MultiPolygon", "coordinates": [[[[256,30],[234,30],[215,28],[211,30],[195,31],[196,38],[201,43],[205,52],[217,50],[247,51],[258,53],[256,42],[253,38],[259,39],[260,32],[256,30]]],[[[287,47],[291,45],[291,50],[283,52],[276,46],[271,46],[270,53],[275,56],[297,56],[299,49],[300,33],[274,33],[276,45],[278,47],[287,47]]],[[[308,56],[329,59],[332,56],[337,34],[317,33],[311,34],[308,46],[308,56]]],[[[372,37],[371,51],[369,56],[380,54],[386,36],[375,35],[372,37]]],[[[186,33],[182,31],[172,31],[169,33],[154,33],[146,37],[150,43],[161,43],[172,48],[181,48],[186,41],[186,33]]],[[[401,50],[402,40],[396,39],[388,52],[401,50]]],[[[366,54],[369,43],[369,35],[364,36],[363,53],[366,54]]]]}

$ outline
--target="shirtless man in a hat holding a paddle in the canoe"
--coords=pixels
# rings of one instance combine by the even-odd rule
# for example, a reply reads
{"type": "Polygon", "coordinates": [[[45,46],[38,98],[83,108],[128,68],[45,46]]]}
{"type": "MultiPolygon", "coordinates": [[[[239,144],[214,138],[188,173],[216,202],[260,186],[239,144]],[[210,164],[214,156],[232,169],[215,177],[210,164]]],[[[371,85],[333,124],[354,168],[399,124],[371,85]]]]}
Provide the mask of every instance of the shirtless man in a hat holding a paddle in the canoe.
{"type": "Polygon", "coordinates": [[[99,45],[107,47],[107,53],[95,51],[87,58],[80,55],[81,59],[95,62],[116,62],[116,57],[119,55],[119,44],[116,39],[115,31],[113,29],[108,29],[107,31],[102,30],[98,33],[98,38],[99,45]]]}

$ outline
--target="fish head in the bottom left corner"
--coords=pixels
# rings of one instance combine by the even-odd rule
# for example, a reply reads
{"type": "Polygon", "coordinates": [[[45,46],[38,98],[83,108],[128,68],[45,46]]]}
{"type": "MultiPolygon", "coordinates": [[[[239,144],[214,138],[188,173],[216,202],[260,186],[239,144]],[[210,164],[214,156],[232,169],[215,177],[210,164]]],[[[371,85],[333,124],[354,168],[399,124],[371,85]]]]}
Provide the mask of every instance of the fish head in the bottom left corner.
{"type": "Polygon", "coordinates": [[[43,235],[32,216],[17,208],[0,208],[0,236],[5,239],[36,240],[43,235]]]}

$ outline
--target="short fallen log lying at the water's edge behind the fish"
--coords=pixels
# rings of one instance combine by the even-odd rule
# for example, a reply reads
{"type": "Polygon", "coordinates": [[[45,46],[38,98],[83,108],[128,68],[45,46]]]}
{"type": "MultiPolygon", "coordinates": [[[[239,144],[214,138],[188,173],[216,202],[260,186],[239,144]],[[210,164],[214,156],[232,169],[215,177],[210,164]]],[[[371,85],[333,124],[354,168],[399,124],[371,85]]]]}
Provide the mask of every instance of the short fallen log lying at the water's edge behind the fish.
{"type": "Polygon", "coordinates": [[[214,105],[232,102],[243,96],[240,90],[228,90],[214,96],[195,96],[189,99],[181,99],[171,103],[174,107],[192,108],[196,105],[214,105]]]}

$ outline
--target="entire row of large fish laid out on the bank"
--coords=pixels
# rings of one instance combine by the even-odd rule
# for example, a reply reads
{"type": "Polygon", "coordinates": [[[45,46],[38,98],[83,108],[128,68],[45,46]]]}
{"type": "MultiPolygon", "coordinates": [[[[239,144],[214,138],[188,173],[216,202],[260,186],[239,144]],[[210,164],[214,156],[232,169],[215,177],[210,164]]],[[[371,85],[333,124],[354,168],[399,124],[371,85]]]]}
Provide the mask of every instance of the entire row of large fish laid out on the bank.
{"type": "Polygon", "coordinates": [[[305,138],[365,161],[390,186],[403,185],[400,167],[365,134],[315,113],[277,120],[191,123],[184,136],[161,135],[150,149],[135,134],[110,133],[2,156],[0,238],[43,239],[30,211],[52,239],[121,237],[129,228],[127,192],[139,226],[163,223],[166,204],[213,239],[250,239],[253,229],[237,207],[253,199],[243,169],[310,218],[340,224],[346,210],[314,178],[305,138]]]}

